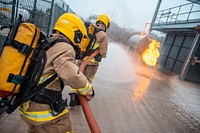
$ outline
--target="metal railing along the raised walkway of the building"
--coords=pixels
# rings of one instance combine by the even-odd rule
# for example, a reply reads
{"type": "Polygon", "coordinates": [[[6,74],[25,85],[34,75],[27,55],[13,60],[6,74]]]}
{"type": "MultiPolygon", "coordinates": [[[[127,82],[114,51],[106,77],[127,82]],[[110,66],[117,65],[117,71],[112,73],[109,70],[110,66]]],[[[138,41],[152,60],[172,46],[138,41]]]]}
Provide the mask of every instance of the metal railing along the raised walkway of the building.
{"type": "Polygon", "coordinates": [[[180,24],[189,22],[200,22],[200,5],[187,3],[184,5],[160,10],[154,25],[180,24]]]}

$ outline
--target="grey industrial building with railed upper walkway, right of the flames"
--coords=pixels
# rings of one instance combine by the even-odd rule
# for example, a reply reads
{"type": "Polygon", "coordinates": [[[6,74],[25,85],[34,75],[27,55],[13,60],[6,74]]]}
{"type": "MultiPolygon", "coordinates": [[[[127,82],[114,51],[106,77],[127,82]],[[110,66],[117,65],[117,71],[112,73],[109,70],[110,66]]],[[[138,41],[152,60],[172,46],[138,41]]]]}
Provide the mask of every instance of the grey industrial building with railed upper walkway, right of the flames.
{"type": "Polygon", "coordinates": [[[158,1],[150,30],[166,33],[159,65],[181,80],[200,83],[200,1],[160,9],[158,1]]]}

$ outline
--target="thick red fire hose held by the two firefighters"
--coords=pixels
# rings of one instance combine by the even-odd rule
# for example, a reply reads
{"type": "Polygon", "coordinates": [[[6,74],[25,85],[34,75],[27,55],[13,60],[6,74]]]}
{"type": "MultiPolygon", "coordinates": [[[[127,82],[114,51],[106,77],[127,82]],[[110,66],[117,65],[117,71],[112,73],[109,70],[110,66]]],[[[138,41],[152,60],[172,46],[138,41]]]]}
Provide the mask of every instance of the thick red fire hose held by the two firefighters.
{"type": "MultiPolygon", "coordinates": [[[[90,61],[90,59],[92,59],[93,57],[95,57],[97,54],[99,53],[99,51],[95,51],[93,54],[91,54],[85,61],[83,61],[83,63],[80,66],[80,71],[83,72],[85,67],[87,66],[88,62],[90,61]]],[[[91,133],[101,133],[100,128],[94,118],[94,115],[90,109],[90,106],[88,104],[88,101],[86,99],[85,96],[79,95],[79,101],[80,104],[82,106],[83,112],[85,114],[85,118],[87,120],[87,123],[90,127],[90,131],[91,133]]]]}

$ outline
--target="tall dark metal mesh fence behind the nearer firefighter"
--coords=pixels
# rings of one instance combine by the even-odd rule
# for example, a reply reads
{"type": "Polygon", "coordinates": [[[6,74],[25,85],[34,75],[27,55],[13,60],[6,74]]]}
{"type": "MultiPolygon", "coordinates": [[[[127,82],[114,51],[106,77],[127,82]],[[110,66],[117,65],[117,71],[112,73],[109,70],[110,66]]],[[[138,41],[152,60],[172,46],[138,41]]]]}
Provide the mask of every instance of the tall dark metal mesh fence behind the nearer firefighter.
{"type": "MultiPolygon", "coordinates": [[[[49,36],[58,17],[73,12],[64,0],[0,0],[0,26],[14,22],[22,14],[25,21],[40,27],[49,36]]],[[[8,30],[0,31],[0,53],[8,30]]]]}

